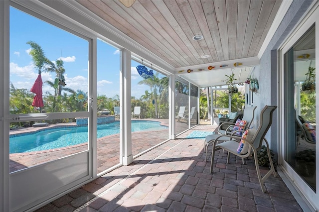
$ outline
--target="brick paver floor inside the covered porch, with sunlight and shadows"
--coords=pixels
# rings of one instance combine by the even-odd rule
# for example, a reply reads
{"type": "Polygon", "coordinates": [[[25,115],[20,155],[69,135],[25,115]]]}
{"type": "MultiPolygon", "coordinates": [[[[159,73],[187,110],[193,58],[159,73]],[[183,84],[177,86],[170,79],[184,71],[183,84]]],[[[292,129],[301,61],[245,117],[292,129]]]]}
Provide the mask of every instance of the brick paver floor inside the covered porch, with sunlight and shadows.
{"type": "Polygon", "coordinates": [[[193,130],[214,127],[198,125],[37,212],[302,212],[278,175],[262,193],[252,160],[243,165],[232,155],[226,164],[227,154],[218,151],[209,173],[203,139],[186,138],[193,130]]]}

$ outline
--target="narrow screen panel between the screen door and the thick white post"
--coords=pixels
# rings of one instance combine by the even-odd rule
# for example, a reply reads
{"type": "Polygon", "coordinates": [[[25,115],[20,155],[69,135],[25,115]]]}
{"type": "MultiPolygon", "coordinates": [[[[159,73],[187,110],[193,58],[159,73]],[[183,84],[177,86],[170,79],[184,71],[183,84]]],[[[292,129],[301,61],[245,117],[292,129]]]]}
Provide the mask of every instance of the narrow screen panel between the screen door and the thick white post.
{"type": "Polygon", "coordinates": [[[120,162],[120,50],[97,40],[97,173],[120,162]]]}

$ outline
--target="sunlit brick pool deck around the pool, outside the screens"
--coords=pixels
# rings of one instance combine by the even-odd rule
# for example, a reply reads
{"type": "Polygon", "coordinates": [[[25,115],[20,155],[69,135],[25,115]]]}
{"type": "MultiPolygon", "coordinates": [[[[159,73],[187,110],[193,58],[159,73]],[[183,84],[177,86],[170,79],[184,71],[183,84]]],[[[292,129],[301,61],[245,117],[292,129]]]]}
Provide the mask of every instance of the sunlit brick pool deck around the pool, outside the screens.
{"type": "MultiPolygon", "coordinates": [[[[138,120],[138,119],[134,119],[138,120]]],[[[160,121],[162,125],[168,126],[168,119],[139,119],[139,120],[154,120],[160,121]]],[[[76,126],[73,123],[51,124],[46,127],[27,127],[19,130],[10,130],[10,134],[17,134],[21,132],[34,132],[37,130],[50,129],[61,126],[76,126]]],[[[177,131],[181,132],[186,128],[186,123],[176,122],[177,131]]],[[[132,132],[132,154],[138,155],[147,149],[150,149],[161,142],[168,139],[168,129],[159,131],[144,131],[132,132]],[[147,138],[147,139],[145,139],[147,138]]],[[[97,139],[98,149],[98,172],[100,173],[120,163],[120,135],[109,135],[97,139]]],[[[77,144],[68,147],[57,149],[13,153],[10,154],[10,172],[18,171],[27,167],[35,166],[37,164],[45,163],[51,160],[56,160],[68,155],[72,155],[88,149],[87,143],[77,144]]]]}

